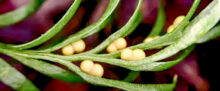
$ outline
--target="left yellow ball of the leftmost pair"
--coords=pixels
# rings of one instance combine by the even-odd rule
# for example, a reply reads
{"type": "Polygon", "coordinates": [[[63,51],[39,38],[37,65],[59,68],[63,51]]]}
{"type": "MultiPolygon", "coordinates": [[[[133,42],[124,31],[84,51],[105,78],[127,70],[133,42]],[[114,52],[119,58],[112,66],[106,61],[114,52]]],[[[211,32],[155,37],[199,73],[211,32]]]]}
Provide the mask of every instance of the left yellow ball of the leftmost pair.
{"type": "Polygon", "coordinates": [[[72,47],[72,45],[67,45],[65,47],[62,48],[62,53],[65,56],[70,56],[74,54],[74,49],[72,47]]]}

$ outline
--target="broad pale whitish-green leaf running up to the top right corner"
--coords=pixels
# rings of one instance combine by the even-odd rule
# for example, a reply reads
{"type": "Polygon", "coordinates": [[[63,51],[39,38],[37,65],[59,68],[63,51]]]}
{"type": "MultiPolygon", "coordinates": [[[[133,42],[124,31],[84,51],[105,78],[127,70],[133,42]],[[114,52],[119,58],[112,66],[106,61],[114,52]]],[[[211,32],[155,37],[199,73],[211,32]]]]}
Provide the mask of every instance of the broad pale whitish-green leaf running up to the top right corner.
{"type": "MultiPolygon", "coordinates": [[[[174,44],[171,44],[167,48],[160,52],[143,59],[138,62],[130,62],[132,65],[141,65],[148,62],[154,62],[162,60],[169,56],[172,56],[182,49],[192,45],[199,38],[203,37],[220,19],[220,1],[214,0],[208,5],[193,21],[187,26],[183,36],[177,40],[174,44]]],[[[130,64],[129,63],[129,64],[130,64]]]]}

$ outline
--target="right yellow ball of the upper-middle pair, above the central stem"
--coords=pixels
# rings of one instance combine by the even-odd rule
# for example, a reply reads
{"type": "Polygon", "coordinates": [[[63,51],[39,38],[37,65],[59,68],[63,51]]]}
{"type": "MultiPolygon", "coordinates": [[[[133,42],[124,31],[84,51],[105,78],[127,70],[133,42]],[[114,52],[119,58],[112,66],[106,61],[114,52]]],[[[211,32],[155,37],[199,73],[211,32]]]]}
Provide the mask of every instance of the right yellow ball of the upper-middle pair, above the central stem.
{"type": "Polygon", "coordinates": [[[118,50],[123,49],[127,46],[127,42],[124,38],[119,38],[115,40],[113,43],[118,50]]]}

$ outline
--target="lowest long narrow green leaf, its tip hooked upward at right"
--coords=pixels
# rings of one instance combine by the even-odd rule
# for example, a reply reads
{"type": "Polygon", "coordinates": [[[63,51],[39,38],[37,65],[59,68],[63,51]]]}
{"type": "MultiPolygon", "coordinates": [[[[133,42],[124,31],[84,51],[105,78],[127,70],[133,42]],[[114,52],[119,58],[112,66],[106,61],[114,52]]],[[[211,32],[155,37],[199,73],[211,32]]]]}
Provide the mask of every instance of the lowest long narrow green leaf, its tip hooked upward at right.
{"type": "MultiPolygon", "coordinates": [[[[25,53],[19,53],[12,50],[7,50],[7,49],[1,49],[0,51],[5,54],[9,55],[18,55],[18,56],[26,56],[26,57],[39,57],[40,54],[37,55],[30,55],[30,54],[25,54],[25,53]]],[[[172,91],[175,88],[176,85],[176,78],[174,79],[172,84],[134,84],[134,83],[128,83],[124,81],[117,81],[117,80],[110,80],[110,79],[105,79],[105,78],[99,78],[99,77],[94,77],[91,75],[88,75],[80,70],[79,67],[76,65],[72,64],[69,61],[66,60],[61,60],[55,57],[50,57],[48,55],[40,56],[44,57],[44,59],[47,59],[52,62],[60,63],[67,68],[69,68],[71,71],[75,72],[79,76],[81,76],[85,81],[95,84],[95,85],[101,85],[101,86],[108,86],[108,87],[116,87],[120,88],[123,90],[137,90],[137,91],[142,91],[142,90],[155,90],[155,91],[163,91],[164,89],[167,91],[172,91]]]]}

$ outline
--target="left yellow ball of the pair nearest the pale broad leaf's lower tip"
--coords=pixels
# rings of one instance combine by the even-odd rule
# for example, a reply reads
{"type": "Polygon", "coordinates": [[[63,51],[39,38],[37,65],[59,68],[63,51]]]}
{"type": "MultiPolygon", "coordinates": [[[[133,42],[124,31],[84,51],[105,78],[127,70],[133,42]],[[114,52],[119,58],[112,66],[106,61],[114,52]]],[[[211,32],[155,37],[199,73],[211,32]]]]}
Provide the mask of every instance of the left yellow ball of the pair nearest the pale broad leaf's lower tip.
{"type": "Polygon", "coordinates": [[[129,48],[126,48],[121,51],[121,59],[123,60],[131,60],[131,57],[133,55],[133,51],[129,48]]]}

